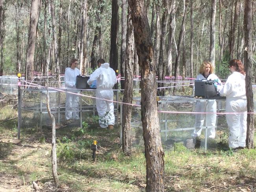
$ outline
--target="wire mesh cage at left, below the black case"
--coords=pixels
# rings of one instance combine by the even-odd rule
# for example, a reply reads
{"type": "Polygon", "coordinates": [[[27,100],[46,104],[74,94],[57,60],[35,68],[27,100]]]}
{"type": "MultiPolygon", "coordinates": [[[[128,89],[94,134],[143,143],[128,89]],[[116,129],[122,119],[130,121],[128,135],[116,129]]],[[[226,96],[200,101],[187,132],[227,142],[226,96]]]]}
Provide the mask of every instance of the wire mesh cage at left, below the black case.
{"type": "MultiPolygon", "coordinates": [[[[66,90],[66,89],[61,89],[66,90]]],[[[86,96],[95,97],[95,90],[67,90],[70,92],[76,92],[86,96]]],[[[113,100],[117,100],[118,96],[114,92],[113,100]]],[[[22,89],[22,127],[42,127],[51,126],[52,120],[47,111],[46,89],[22,89]]],[[[89,98],[86,96],[79,96],[79,120],[76,121],[76,125],[82,126],[82,122],[88,122],[98,126],[98,118],[96,117],[96,101],[95,98],[89,98]],[[81,115],[82,114],[82,115],[81,115]]],[[[54,114],[56,124],[64,124],[65,119],[65,102],[66,93],[57,90],[49,90],[50,109],[54,114]]],[[[115,121],[118,123],[118,103],[114,102],[114,114],[115,121]]],[[[76,109],[72,109],[75,112],[76,109]]]]}

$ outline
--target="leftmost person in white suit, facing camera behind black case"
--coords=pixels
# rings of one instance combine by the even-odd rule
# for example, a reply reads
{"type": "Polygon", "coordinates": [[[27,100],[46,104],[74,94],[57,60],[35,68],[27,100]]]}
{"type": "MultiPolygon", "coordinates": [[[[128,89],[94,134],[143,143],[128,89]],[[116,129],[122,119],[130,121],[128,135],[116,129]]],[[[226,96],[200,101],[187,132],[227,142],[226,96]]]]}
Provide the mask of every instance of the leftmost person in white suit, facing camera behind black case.
{"type": "MultiPolygon", "coordinates": [[[[77,93],[78,91],[73,91],[70,89],[76,89],[76,76],[80,75],[80,71],[76,66],[78,65],[78,60],[72,58],[70,61],[70,67],[65,69],[65,87],[67,87],[69,92],[77,93]]],[[[71,93],[66,93],[66,120],[79,119],[79,96],[71,93]]]]}

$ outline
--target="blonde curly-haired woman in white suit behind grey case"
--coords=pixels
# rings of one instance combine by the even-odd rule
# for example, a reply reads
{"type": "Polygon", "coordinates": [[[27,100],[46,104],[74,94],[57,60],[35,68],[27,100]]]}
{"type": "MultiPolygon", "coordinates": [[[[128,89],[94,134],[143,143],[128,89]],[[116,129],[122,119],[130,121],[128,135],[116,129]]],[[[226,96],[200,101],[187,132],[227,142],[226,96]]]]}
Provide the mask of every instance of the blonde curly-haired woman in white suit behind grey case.
{"type": "MultiPolygon", "coordinates": [[[[212,80],[217,82],[220,86],[221,80],[213,74],[213,66],[210,62],[204,61],[199,69],[199,75],[197,76],[196,80],[212,80]]],[[[196,114],[195,116],[195,130],[192,133],[192,137],[196,138],[195,148],[200,147],[200,135],[202,132],[202,126],[205,123],[205,126],[211,127],[207,130],[207,137],[208,138],[215,138],[215,124],[216,124],[216,108],[217,104],[215,101],[197,101],[196,103],[196,112],[210,112],[209,114],[196,114]]]]}

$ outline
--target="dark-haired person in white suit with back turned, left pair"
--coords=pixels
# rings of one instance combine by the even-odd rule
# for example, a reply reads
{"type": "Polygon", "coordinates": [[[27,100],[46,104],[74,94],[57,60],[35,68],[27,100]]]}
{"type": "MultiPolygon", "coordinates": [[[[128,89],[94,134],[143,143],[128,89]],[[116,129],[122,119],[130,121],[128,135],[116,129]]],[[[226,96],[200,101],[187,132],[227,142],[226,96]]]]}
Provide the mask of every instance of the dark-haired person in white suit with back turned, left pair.
{"type": "Polygon", "coordinates": [[[117,77],[115,71],[105,63],[104,59],[97,61],[98,68],[90,75],[87,83],[91,85],[96,80],[96,108],[99,116],[99,125],[102,128],[113,129],[115,125],[113,90],[117,77]]]}

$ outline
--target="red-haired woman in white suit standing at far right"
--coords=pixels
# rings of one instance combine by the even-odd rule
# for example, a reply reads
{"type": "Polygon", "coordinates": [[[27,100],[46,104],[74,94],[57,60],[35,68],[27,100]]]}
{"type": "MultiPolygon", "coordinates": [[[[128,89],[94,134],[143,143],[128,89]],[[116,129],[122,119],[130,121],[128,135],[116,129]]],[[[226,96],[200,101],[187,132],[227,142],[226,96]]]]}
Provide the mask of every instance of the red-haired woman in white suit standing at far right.
{"type": "Polygon", "coordinates": [[[232,74],[224,87],[217,86],[217,90],[222,96],[226,96],[226,112],[234,113],[226,114],[229,128],[228,146],[232,149],[243,149],[247,131],[245,70],[242,62],[237,59],[229,61],[229,69],[232,74]]]}

